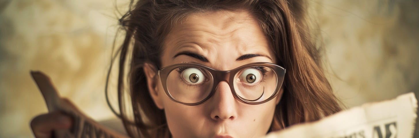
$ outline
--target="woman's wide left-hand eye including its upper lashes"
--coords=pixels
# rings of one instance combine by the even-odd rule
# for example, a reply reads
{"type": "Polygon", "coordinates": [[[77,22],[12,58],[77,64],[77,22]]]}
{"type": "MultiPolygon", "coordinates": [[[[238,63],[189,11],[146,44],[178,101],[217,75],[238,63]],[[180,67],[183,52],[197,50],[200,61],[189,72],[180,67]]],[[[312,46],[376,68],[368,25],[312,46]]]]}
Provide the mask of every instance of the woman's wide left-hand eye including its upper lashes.
{"type": "Polygon", "coordinates": [[[182,81],[186,82],[187,84],[201,84],[206,80],[202,69],[199,68],[182,66],[176,69],[176,71],[179,72],[182,81]]]}

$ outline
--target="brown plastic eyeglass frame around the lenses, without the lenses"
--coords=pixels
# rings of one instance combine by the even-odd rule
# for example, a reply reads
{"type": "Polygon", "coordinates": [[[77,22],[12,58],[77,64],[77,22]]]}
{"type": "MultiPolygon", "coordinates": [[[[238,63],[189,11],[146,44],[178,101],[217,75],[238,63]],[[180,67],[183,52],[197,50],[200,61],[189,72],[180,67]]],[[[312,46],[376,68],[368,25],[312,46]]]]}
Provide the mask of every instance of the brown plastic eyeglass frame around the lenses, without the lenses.
{"type": "Polygon", "coordinates": [[[212,95],[214,95],[214,93],[215,93],[215,91],[218,87],[218,84],[222,81],[225,81],[225,82],[228,83],[228,85],[230,86],[231,93],[233,94],[235,99],[239,100],[240,102],[245,103],[245,104],[249,104],[249,105],[263,104],[265,102],[268,102],[268,101],[274,99],[274,97],[276,97],[278,95],[279,89],[282,87],[282,84],[284,82],[285,73],[286,73],[286,69],[284,67],[279,66],[277,64],[269,63],[269,62],[250,63],[250,64],[239,66],[235,69],[228,70],[228,71],[220,71],[220,70],[212,69],[208,66],[204,66],[204,65],[196,64],[196,63],[173,64],[173,65],[169,65],[169,66],[166,66],[166,67],[158,70],[158,76],[160,78],[160,82],[163,85],[163,89],[166,93],[166,96],[169,97],[169,99],[171,99],[174,102],[177,102],[177,103],[182,104],[182,105],[189,105],[189,106],[201,105],[204,102],[207,102],[212,97],[212,95]],[[237,93],[235,92],[234,86],[232,84],[230,84],[230,82],[234,81],[235,74],[240,72],[242,69],[248,68],[249,66],[256,66],[256,65],[266,66],[266,67],[269,67],[270,69],[272,69],[274,71],[274,73],[277,75],[276,76],[277,86],[275,87],[274,94],[272,94],[268,99],[266,99],[264,101],[261,101],[261,102],[248,102],[250,100],[246,100],[246,99],[240,97],[239,95],[237,95],[237,93]],[[168,78],[169,74],[173,70],[175,70],[175,69],[177,69],[178,67],[181,67],[181,66],[198,67],[200,69],[204,69],[204,70],[208,71],[209,75],[211,75],[210,77],[212,78],[212,83],[213,83],[212,85],[213,86],[211,88],[211,92],[203,100],[201,100],[199,102],[195,102],[195,103],[180,102],[180,101],[176,100],[175,98],[173,98],[173,96],[168,91],[168,89],[167,89],[167,78],[168,78]],[[165,80],[165,81],[163,81],[163,80],[165,80]]]}

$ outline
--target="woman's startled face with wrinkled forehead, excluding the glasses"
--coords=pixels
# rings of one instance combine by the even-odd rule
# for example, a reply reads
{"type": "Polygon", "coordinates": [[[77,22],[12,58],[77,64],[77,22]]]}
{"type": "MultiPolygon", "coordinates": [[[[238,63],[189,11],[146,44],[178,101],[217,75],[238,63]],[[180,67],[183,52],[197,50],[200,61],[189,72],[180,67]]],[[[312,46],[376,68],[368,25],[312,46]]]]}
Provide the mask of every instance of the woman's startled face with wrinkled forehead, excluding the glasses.
{"type": "MultiPolygon", "coordinates": [[[[247,12],[230,11],[190,15],[179,22],[164,41],[161,60],[163,67],[197,63],[217,70],[231,70],[253,62],[276,63],[258,22],[247,12]],[[189,54],[179,54],[185,52],[189,54]],[[252,55],[243,57],[249,54],[252,55]]],[[[146,74],[150,74],[151,69],[146,68],[146,74]]],[[[223,136],[227,135],[251,138],[265,135],[282,95],[280,92],[269,102],[248,105],[236,100],[229,84],[222,81],[207,102],[188,106],[170,100],[160,79],[152,77],[147,75],[150,95],[156,105],[165,111],[173,138],[226,138],[223,136]]]]}

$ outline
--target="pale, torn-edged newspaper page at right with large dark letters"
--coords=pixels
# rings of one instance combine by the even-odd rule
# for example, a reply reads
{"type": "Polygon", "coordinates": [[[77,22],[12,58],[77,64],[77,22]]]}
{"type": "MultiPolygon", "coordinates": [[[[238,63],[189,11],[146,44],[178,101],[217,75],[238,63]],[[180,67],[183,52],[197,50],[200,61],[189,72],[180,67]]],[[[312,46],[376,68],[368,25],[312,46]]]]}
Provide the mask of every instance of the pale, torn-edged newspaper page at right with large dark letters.
{"type": "Polygon", "coordinates": [[[413,92],[367,103],[321,120],[290,126],[265,138],[412,138],[417,100],[413,92]]]}

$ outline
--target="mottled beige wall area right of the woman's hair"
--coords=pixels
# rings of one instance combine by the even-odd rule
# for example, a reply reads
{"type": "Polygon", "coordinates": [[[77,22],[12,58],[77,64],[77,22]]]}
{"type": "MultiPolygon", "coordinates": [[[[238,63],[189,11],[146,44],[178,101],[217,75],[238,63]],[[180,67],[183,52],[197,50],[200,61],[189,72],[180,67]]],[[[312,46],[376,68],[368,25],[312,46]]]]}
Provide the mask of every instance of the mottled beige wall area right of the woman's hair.
{"type": "Polygon", "coordinates": [[[331,83],[348,107],[419,91],[417,1],[309,3],[325,44],[331,83]]]}

